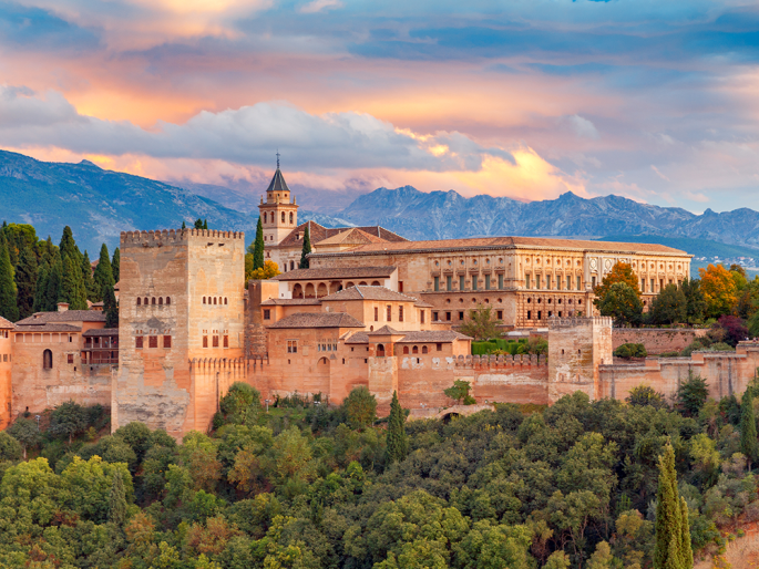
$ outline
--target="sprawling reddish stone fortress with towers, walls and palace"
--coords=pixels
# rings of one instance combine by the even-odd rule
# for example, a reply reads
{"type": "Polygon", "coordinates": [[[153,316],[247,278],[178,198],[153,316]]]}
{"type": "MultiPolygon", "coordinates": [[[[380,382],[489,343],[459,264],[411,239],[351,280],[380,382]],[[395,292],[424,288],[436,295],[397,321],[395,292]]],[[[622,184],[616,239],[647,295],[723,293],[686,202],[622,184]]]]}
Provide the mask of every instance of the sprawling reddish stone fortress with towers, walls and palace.
{"type": "Polygon", "coordinates": [[[265,255],[283,273],[245,283],[243,234],[121,235],[120,327],[96,310],[0,319],[0,427],[73,399],[176,437],[207,431],[236,381],[261,397],[321,394],[340,403],[365,385],[379,412],[393,391],[414,415],[453,404],[469,381],[478,403],[551,404],[583,391],[624,399],[642,383],[671,395],[690,371],[715,397],[739,393],[759,344],[688,359],[619,364],[614,330],[594,313],[593,287],[617,261],[640,279],[644,302],[680,283],[690,256],[658,245],[493,237],[408,241],[381,227],[298,224],[277,168],[259,206],[265,255]],[[297,269],[306,229],[310,268],[297,269]],[[547,328],[546,356],[472,356],[457,325],[490,306],[505,329],[547,328]]]}

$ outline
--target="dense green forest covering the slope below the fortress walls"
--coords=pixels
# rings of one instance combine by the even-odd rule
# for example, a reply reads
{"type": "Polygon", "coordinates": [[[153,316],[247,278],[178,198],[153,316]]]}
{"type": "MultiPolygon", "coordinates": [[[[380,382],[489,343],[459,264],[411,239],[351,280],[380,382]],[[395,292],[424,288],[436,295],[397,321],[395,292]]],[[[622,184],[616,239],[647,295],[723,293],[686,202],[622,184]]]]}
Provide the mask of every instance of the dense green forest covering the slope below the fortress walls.
{"type": "Polygon", "coordinates": [[[759,519],[757,395],[717,402],[691,376],[673,401],[639,386],[407,421],[366,387],[267,408],[237,383],[181,444],[70,402],[0,433],[0,566],[685,568],[657,540],[667,500],[683,559],[759,519]]]}

